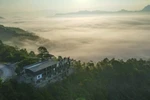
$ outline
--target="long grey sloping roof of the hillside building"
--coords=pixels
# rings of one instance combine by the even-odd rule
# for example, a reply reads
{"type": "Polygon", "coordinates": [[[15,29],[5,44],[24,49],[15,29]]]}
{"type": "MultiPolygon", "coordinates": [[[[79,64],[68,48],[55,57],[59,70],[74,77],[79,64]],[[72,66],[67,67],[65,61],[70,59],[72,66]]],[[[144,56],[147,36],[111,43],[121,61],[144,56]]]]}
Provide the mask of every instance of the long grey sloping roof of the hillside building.
{"type": "Polygon", "coordinates": [[[29,69],[32,72],[38,72],[42,69],[45,69],[47,67],[50,67],[52,65],[57,64],[58,61],[54,61],[54,60],[48,60],[48,61],[43,61],[43,62],[39,62],[39,63],[35,63],[29,66],[24,67],[24,69],[29,69]]]}

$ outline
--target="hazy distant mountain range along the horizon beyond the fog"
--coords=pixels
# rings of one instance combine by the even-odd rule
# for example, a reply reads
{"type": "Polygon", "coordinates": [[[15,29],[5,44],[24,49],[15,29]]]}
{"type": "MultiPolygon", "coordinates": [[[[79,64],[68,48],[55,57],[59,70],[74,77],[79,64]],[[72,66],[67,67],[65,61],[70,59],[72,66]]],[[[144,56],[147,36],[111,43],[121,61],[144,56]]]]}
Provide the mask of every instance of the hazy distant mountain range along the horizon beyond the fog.
{"type": "Polygon", "coordinates": [[[58,13],[56,15],[85,15],[85,14],[109,14],[109,13],[133,13],[133,12],[150,12],[150,5],[147,5],[142,10],[139,11],[128,11],[125,9],[122,9],[120,11],[100,11],[100,10],[94,10],[94,11],[78,11],[78,12],[70,12],[70,13],[58,13]]]}

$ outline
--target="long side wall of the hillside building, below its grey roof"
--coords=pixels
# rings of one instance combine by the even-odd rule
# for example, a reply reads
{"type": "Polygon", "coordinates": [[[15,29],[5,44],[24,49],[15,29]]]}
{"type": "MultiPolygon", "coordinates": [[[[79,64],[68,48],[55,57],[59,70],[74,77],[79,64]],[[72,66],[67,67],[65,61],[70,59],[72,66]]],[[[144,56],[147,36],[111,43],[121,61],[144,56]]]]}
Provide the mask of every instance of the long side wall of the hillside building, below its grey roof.
{"type": "MultiPolygon", "coordinates": [[[[39,83],[40,81],[53,78],[59,74],[66,74],[70,67],[70,61],[67,59],[60,61],[58,64],[48,66],[45,69],[42,69],[36,73],[32,73],[33,83],[39,83]]],[[[26,71],[27,74],[30,74],[30,71],[26,71]]]]}

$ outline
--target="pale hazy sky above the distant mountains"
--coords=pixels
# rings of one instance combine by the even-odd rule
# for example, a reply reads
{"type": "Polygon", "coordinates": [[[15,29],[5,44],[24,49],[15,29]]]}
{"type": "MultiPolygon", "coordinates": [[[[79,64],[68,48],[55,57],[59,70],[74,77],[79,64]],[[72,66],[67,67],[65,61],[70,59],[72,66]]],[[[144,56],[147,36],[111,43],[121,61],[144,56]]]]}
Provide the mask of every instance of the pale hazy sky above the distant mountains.
{"type": "Polygon", "coordinates": [[[53,10],[70,12],[78,10],[139,10],[150,0],[0,0],[0,12],[53,10]]]}

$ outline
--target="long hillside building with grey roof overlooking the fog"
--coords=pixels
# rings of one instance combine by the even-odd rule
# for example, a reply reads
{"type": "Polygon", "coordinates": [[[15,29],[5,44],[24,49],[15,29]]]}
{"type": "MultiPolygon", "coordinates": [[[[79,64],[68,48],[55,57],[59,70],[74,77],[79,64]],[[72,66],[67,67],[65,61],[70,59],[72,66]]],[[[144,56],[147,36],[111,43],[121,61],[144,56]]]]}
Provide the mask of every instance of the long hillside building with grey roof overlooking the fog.
{"type": "Polygon", "coordinates": [[[60,61],[47,60],[24,67],[24,77],[27,83],[40,83],[60,75],[66,75],[70,68],[70,59],[60,61]]]}

